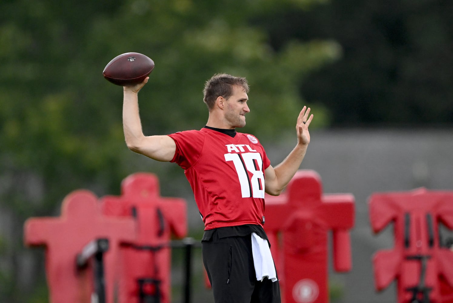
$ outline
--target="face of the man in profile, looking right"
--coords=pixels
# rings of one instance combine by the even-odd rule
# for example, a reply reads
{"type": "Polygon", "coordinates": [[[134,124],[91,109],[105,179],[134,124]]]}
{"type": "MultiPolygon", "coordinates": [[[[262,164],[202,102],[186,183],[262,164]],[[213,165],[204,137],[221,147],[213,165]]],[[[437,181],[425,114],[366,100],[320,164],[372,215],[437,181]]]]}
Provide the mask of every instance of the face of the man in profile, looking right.
{"type": "Polygon", "coordinates": [[[225,106],[225,120],[231,128],[246,126],[245,114],[250,111],[247,106],[249,97],[241,86],[233,86],[231,95],[225,106]]]}

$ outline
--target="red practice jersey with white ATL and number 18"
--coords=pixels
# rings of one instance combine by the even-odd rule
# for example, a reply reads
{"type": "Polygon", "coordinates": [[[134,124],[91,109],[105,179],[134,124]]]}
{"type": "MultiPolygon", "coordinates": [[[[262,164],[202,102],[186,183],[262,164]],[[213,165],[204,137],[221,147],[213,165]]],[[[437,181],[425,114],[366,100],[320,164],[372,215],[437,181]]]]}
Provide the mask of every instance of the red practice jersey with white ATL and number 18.
{"type": "Polygon", "coordinates": [[[202,128],[169,135],[176,143],[171,162],[184,169],[205,230],[257,224],[264,216],[264,170],[260,142],[248,134],[231,137],[202,128]]]}

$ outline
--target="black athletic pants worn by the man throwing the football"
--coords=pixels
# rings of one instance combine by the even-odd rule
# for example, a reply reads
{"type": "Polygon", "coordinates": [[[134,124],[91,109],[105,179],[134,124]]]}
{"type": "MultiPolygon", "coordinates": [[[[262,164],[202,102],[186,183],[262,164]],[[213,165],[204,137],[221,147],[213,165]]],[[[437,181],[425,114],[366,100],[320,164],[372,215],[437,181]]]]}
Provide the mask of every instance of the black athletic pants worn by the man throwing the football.
{"type": "Polygon", "coordinates": [[[215,303],[280,303],[280,285],[256,280],[251,235],[202,241],[203,263],[215,303]]]}

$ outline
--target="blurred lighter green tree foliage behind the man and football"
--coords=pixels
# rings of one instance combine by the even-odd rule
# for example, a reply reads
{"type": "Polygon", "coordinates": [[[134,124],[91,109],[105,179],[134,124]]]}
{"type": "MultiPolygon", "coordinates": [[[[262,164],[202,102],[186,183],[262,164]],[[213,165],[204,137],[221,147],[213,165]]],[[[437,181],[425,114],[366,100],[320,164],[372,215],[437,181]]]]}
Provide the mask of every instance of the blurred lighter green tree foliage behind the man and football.
{"type": "MultiPolygon", "coordinates": [[[[227,72],[251,84],[244,131],[270,141],[293,130],[304,77],[341,49],[330,40],[290,39],[275,50],[253,20],[317,2],[323,1],[1,1],[0,220],[12,222],[0,231],[0,263],[8,264],[0,266],[1,301],[47,302],[39,286],[43,256],[24,249],[22,226],[30,216],[58,215],[72,190],[117,194],[125,176],[146,170],[170,184],[163,193],[182,194],[182,173],[169,182],[178,167],[145,163],[126,148],[121,87],[101,75],[111,58],[134,51],[155,61],[140,91],[145,134],[201,128],[204,82],[227,72]],[[24,266],[36,274],[24,275],[24,266]]],[[[314,127],[328,124],[322,106],[313,111],[314,127]]]]}

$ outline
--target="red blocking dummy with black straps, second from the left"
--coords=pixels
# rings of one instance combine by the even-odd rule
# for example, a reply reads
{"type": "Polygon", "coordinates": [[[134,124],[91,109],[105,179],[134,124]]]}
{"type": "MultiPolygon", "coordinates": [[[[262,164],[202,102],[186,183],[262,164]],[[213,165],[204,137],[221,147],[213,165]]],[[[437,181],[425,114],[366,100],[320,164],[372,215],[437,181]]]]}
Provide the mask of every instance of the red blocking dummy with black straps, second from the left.
{"type": "Polygon", "coordinates": [[[121,248],[120,302],[140,299],[139,279],[157,281],[142,289],[170,303],[171,236],[187,234],[187,206],[184,199],[160,197],[159,180],[151,173],[135,173],[121,183],[121,196],[101,199],[102,212],[110,216],[135,218],[137,238],[121,248]],[[159,294],[157,294],[159,288],[159,294]]]}

